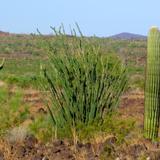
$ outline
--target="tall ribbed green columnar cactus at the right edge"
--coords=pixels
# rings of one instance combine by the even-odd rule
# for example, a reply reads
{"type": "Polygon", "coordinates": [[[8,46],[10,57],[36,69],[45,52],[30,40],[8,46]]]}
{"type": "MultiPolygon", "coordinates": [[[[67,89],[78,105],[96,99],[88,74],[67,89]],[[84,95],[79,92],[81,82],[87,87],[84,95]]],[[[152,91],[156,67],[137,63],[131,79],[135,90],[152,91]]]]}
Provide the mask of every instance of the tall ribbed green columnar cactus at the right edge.
{"type": "Polygon", "coordinates": [[[160,31],[152,27],[148,35],[148,53],[145,82],[145,137],[158,137],[160,118],[160,31]]]}

